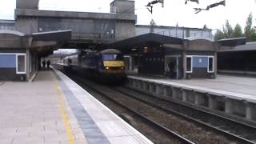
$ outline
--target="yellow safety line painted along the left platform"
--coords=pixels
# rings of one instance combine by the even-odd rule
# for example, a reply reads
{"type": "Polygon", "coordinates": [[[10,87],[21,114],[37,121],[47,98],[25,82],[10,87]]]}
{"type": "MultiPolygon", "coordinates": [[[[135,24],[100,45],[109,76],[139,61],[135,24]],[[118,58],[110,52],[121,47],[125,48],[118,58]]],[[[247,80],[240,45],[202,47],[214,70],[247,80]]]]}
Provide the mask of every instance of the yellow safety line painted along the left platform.
{"type": "Polygon", "coordinates": [[[60,111],[61,111],[61,114],[62,114],[62,118],[64,120],[64,126],[65,126],[65,129],[66,129],[66,136],[67,136],[68,141],[69,141],[70,144],[75,144],[74,134],[72,133],[70,122],[68,121],[66,107],[65,107],[64,100],[63,100],[63,97],[62,97],[62,91],[59,89],[57,79],[56,78],[53,78],[53,79],[54,79],[54,88],[56,90],[57,97],[58,97],[58,104],[60,105],[60,108],[61,108],[60,111]]]}

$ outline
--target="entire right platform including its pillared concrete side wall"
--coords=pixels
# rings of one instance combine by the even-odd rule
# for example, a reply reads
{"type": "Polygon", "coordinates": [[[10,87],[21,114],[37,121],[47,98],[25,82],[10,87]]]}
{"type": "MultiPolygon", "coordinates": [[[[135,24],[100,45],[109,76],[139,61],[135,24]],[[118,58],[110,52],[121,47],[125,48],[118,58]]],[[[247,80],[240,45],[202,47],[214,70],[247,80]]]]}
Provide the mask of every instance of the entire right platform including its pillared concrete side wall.
{"type": "Polygon", "coordinates": [[[130,75],[127,85],[200,110],[256,123],[256,78],[218,75],[215,79],[174,80],[130,75]]]}

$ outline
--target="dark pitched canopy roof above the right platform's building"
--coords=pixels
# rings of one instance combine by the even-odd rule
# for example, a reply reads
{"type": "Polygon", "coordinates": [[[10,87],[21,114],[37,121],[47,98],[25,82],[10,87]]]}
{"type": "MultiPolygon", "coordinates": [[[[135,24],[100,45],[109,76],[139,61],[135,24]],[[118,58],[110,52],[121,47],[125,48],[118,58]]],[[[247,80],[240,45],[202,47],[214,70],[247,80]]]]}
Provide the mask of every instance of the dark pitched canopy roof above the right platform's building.
{"type": "MultiPolygon", "coordinates": [[[[119,42],[114,42],[107,44],[105,46],[102,46],[101,49],[118,49],[121,50],[125,54],[134,53],[134,50],[142,49],[145,46],[152,46],[152,45],[159,45],[159,46],[171,46],[171,47],[177,47],[178,49],[183,49],[182,47],[184,45],[190,46],[190,49],[192,50],[193,46],[198,46],[198,50],[200,50],[200,46],[202,46],[202,50],[222,50],[222,47],[231,47],[234,48],[234,46],[244,45],[246,43],[246,38],[228,38],[228,39],[222,39],[218,41],[210,41],[206,39],[183,39],[183,38],[174,38],[165,36],[162,34],[154,34],[154,33],[148,33],[148,34],[142,34],[133,38],[127,38],[119,42]],[[195,45],[196,44],[196,45],[195,45]],[[215,49],[214,46],[218,45],[219,48],[215,49]],[[192,47],[191,47],[192,46],[192,47]],[[207,48],[207,46],[210,46],[207,48]]],[[[187,50],[190,50],[187,49],[187,50]]],[[[193,50],[197,50],[197,47],[195,47],[193,50]]]]}

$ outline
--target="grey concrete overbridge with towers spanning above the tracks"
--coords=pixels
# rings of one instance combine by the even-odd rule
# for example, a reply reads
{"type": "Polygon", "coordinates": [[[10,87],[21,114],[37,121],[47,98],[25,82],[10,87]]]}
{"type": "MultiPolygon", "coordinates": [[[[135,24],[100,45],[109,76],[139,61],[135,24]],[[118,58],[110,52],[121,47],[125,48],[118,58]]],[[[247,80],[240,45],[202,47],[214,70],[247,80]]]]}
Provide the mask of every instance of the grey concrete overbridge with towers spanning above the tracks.
{"type": "Polygon", "coordinates": [[[72,30],[69,46],[105,44],[135,36],[133,1],[111,2],[110,13],[38,10],[38,2],[17,0],[16,30],[24,34],[72,30]]]}

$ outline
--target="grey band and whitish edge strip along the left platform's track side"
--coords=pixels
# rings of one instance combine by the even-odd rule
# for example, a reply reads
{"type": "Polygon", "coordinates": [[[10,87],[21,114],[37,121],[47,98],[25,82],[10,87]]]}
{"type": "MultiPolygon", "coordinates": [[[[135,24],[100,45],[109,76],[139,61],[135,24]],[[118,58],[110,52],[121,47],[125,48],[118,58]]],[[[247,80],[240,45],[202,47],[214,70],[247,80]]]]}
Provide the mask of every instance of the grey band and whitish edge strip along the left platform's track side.
{"type": "MultiPolygon", "coordinates": [[[[75,82],[56,70],[58,77],[62,79],[61,86],[66,85],[71,94],[67,98],[74,115],[78,120],[83,133],[89,143],[112,143],[112,144],[137,144],[152,143],[144,135],[140,134],[132,126],[119,118],[101,102],[92,97],[75,82]],[[73,94],[73,96],[71,96],[73,94]],[[74,102],[74,99],[78,103],[74,102]],[[80,106],[79,106],[80,105],[80,106]],[[82,113],[81,113],[82,112],[82,113]],[[95,139],[95,136],[99,140],[95,139]]],[[[67,91],[66,91],[67,92],[67,91]]]]}

